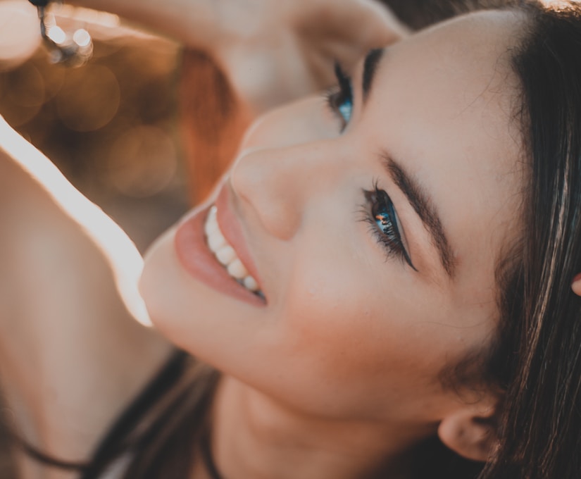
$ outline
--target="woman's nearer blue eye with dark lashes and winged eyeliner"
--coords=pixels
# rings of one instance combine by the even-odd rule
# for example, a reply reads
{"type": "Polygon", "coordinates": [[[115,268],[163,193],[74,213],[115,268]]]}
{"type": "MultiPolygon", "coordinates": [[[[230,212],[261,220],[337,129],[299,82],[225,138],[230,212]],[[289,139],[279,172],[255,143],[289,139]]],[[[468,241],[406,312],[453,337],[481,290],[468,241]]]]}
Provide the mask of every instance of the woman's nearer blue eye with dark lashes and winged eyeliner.
{"type": "Polygon", "coordinates": [[[373,182],[373,189],[363,190],[366,205],[362,209],[362,220],[369,224],[370,232],[378,243],[384,247],[387,259],[396,256],[406,261],[413,270],[411,258],[401,241],[401,233],[397,226],[397,217],[392,199],[385,190],[377,186],[377,180],[373,182]]]}

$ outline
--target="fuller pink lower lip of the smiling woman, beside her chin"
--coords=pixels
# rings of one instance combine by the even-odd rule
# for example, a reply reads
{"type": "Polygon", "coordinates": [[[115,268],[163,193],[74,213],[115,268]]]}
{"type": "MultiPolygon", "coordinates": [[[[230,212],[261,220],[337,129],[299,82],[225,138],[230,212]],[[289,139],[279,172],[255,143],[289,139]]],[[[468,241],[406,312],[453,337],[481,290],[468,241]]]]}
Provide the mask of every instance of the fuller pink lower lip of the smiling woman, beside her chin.
{"type": "Polygon", "coordinates": [[[174,244],[180,263],[196,280],[213,290],[254,306],[264,306],[262,299],[232,278],[208,249],[204,235],[207,215],[208,209],[201,209],[178,226],[174,244]]]}

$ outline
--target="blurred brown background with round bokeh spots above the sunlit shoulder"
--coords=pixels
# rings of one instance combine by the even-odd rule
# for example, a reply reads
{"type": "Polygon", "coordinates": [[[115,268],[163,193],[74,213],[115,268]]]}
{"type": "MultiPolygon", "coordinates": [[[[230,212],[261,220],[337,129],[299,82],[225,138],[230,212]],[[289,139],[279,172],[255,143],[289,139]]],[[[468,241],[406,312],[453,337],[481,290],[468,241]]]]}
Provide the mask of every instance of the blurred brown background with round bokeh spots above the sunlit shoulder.
{"type": "Polygon", "coordinates": [[[175,106],[180,50],[116,15],[51,11],[65,32],[91,32],[93,57],[80,68],[51,63],[35,8],[0,0],[0,115],[143,251],[187,207],[175,106]]]}

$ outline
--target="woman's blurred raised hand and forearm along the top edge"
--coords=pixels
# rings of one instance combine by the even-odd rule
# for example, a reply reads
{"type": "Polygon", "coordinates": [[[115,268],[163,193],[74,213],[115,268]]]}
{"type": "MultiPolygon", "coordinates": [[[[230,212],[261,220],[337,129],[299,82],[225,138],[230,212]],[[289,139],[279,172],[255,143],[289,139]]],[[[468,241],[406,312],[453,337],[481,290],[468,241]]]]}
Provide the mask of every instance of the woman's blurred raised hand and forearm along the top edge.
{"type": "Polygon", "coordinates": [[[406,27],[377,0],[67,0],[118,13],[210,54],[251,116],[332,85],[406,27]]]}

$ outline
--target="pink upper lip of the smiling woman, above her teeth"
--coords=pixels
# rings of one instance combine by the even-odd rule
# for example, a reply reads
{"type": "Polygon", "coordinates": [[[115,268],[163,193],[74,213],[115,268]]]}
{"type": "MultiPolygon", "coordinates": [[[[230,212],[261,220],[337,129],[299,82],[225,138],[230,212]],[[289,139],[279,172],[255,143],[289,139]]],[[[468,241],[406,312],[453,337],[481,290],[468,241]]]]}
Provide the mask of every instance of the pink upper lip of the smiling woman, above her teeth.
{"type": "Polygon", "coordinates": [[[232,248],[236,251],[238,258],[242,261],[246,270],[248,270],[251,276],[256,280],[259,289],[263,291],[260,275],[258,275],[258,270],[254,264],[254,260],[246,246],[244,230],[237,214],[235,213],[233,197],[234,194],[230,191],[228,183],[225,182],[215,200],[215,206],[218,209],[216,215],[218,225],[220,226],[220,230],[222,231],[226,241],[230,243],[232,248]]]}

